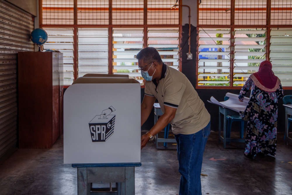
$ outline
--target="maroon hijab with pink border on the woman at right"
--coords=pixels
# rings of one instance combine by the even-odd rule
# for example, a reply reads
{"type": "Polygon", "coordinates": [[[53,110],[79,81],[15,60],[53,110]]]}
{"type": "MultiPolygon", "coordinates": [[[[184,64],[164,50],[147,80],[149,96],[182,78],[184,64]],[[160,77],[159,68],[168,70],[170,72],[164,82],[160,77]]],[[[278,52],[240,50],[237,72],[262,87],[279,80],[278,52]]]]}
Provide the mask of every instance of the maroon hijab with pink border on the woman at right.
{"type": "Polygon", "coordinates": [[[258,72],[251,74],[251,79],[258,88],[267,92],[274,92],[281,84],[280,79],[274,75],[270,61],[260,63],[258,72]]]}

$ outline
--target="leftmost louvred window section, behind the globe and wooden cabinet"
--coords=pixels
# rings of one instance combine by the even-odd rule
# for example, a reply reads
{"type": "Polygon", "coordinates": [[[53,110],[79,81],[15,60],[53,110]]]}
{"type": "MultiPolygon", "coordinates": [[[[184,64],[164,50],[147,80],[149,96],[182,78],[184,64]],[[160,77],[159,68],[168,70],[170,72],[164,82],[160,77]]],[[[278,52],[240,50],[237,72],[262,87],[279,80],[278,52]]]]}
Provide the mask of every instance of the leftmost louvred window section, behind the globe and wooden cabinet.
{"type": "Polygon", "coordinates": [[[63,53],[64,85],[71,85],[74,79],[74,31],[73,28],[44,28],[48,40],[44,49],[58,50],[63,53]]]}

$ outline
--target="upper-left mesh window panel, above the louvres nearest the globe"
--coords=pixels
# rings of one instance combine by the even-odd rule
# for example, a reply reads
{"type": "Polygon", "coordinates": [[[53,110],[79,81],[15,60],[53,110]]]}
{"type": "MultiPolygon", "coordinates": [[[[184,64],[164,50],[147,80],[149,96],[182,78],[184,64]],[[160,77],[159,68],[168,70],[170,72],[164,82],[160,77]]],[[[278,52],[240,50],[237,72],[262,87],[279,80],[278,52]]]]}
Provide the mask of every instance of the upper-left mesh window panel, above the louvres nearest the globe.
{"type": "Polygon", "coordinates": [[[74,0],[42,0],[42,24],[74,24],[74,0]]]}

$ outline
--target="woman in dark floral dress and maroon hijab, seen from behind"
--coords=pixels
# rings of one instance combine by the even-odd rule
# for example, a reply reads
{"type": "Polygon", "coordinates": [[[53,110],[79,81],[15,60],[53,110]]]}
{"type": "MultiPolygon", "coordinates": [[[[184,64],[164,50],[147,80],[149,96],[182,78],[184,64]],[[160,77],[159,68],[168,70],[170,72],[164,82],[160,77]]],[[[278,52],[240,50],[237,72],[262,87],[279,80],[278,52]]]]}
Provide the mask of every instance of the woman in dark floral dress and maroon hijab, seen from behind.
{"type": "Polygon", "coordinates": [[[283,98],[280,79],[274,75],[270,61],[260,63],[259,71],[251,74],[238,96],[242,101],[251,88],[246,110],[241,118],[247,123],[244,155],[276,155],[278,100],[283,98]]]}

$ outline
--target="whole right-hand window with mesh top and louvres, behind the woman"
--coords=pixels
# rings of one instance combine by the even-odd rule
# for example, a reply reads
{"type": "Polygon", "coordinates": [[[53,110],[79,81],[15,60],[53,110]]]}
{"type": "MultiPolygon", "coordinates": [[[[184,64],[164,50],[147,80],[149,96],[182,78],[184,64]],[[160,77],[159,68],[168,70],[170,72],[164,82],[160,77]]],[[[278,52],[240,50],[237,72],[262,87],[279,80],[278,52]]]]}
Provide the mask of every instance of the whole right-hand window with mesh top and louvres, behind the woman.
{"type": "Polygon", "coordinates": [[[292,39],[289,38],[292,36],[291,7],[290,0],[202,1],[199,4],[198,18],[200,28],[197,86],[242,86],[251,73],[258,71],[260,62],[270,60],[273,71],[281,79],[282,85],[291,87],[292,39]],[[234,16],[234,19],[228,18],[227,14],[234,16]],[[218,36],[215,36],[217,34],[218,36]],[[230,40],[228,42],[222,40],[225,43],[219,46],[218,37],[226,36],[230,37],[230,40]],[[206,41],[211,42],[205,43],[206,41]],[[218,59],[219,54],[216,55],[214,52],[215,55],[211,59],[211,51],[214,49],[219,53],[218,49],[216,50],[218,47],[225,49],[223,52],[230,53],[221,54],[224,59],[218,59]],[[217,63],[222,63],[225,69],[218,71],[217,63]]]}

